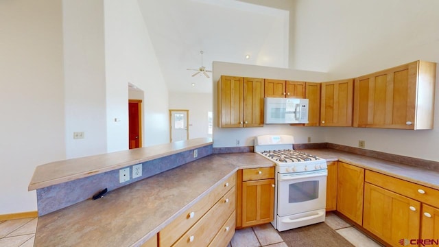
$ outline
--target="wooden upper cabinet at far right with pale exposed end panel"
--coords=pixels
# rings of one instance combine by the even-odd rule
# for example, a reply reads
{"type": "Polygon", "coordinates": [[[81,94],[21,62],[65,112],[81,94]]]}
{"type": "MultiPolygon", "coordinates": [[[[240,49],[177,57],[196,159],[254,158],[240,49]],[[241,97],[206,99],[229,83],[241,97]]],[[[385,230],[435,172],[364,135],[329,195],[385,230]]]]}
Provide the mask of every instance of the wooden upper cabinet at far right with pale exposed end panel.
{"type": "Polygon", "coordinates": [[[436,63],[416,61],[355,78],[355,127],[433,128],[436,63]]]}

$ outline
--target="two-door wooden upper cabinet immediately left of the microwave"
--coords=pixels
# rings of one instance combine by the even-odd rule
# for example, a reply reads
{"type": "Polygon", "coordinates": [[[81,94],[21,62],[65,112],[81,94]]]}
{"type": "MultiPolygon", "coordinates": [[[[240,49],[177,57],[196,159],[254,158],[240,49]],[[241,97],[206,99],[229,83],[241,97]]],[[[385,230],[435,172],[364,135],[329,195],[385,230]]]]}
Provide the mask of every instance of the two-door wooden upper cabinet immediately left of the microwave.
{"type": "Polygon", "coordinates": [[[264,80],[223,75],[218,81],[219,128],[262,127],[264,80]]]}

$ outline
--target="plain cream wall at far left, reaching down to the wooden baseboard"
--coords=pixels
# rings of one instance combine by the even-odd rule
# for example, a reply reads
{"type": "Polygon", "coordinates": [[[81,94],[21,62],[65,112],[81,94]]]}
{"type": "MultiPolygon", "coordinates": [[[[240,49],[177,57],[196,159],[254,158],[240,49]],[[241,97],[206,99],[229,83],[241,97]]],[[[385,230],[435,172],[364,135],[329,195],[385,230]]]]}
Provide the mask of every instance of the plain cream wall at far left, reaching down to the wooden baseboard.
{"type": "Polygon", "coordinates": [[[66,158],[61,1],[0,1],[0,215],[36,210],[37,165],[66,158]]]}

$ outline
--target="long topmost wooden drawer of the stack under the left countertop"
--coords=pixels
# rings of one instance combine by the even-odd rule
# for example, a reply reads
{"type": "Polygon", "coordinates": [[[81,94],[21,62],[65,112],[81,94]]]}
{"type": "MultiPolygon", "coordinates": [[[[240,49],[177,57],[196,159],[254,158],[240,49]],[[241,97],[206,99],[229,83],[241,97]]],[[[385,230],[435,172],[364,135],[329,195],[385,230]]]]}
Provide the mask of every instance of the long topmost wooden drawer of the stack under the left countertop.
{"type": "Polygon", "coordinates": [[[185,213],[179,215],[173,222],[165,226],[160,231],[159,241],[160,246],[171,246],[177,241],[189,229],[195,222],[200,220],[202,215],[209,211],[213,204],[215,204],[219,198],[234,187],[236,184],[236,174],[233,174],[224,183],[218,185],[209,193],[204,196],[200,201],[195,203],[191,208],[187,209],[185,213]]]}

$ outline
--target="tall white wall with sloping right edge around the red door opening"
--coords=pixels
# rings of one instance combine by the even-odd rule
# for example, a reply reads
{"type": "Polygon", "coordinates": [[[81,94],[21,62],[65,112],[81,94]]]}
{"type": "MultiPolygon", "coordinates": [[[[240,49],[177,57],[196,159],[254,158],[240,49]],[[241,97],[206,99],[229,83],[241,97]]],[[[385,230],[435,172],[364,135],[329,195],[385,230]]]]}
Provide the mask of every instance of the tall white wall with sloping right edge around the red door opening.
{"type": "Polygon", "coordinates": [[[128,149],[128,83],[145,92],[143,146],[169,142],[167,86],[136,0],[105,10],[108,152],[128,149]],[[120,121],[115,122],[118,118],[120,121]]]}

